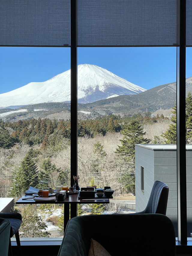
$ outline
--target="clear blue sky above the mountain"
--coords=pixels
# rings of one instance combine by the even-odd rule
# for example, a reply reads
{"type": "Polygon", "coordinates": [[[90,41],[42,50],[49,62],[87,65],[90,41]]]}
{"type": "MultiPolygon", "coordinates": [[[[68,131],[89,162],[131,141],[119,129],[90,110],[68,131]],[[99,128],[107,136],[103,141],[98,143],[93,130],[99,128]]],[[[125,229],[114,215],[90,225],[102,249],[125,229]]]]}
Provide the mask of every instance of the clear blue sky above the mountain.
{"type": "MultiPolygon", "coordinates": [[[[192,76],[187,48],[186,77],[192,76]]],[[[94,64],[145,89],[176,81],[176,47],[78,48],[78,64],[94,64]]],[[[0,93],[43,82],[70,69],[70,48],[0,47],[0,93]]]]}

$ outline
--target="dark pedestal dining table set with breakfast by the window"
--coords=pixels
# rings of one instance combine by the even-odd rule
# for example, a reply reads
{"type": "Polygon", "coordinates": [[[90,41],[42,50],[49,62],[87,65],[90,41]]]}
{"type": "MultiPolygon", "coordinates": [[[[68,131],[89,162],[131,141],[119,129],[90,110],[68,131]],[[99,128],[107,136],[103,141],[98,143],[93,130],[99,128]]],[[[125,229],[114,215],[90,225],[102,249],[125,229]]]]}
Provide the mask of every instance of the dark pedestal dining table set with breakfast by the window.
{"type": "Polygon", "coordinates": [[[41,201],[35,201],[35,197],[32,198],[32,195],[25,194],[21,198],[19,198],[16,201],[16,204],[64,204],[64,231],[67,226],[67,222],[69,221],[69,217],[73,218],[77,216],[77,204],[79,203],[110,203],[110,199],[107,197],[97,197],[95,195],[95,198],[79,198],[79,193],[70,194],[69,197],[65,198],[62,201],[58,201],[57,199],[55,201],[47,201],[47,200],[41,200],[41,201]],[[69,206],[70,206],[70,215],[69,215],[69,206]]]}

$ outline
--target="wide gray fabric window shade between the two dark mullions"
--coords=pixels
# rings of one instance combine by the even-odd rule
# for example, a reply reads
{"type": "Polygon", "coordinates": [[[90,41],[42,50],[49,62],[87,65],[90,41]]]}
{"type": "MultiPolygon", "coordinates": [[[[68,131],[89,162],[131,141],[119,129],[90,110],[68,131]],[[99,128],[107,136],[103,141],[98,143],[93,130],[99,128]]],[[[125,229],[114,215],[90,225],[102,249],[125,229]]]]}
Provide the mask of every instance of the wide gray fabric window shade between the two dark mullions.
{"type": "Polygon", "coordinates": [[[78,46],[177,45],[177,0],[79,0],[78,46]]]}

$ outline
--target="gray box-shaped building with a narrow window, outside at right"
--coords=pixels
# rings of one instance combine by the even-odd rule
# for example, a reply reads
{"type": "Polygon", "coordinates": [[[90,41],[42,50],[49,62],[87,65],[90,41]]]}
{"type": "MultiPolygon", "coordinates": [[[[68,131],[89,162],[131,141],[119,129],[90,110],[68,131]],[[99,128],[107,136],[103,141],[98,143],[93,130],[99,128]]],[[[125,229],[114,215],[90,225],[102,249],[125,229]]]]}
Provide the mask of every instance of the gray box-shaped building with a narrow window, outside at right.
{"type": "MultiPolygon", "coordinates": [[[[192,233],[192,145],[186,145],[187,165],[187,236],[192,233]]],[[[177,158],[174,144],[135,145],[136,212],[145,209],[156,180],[169,186],[167,216],[177,236],[177,158]]]]}

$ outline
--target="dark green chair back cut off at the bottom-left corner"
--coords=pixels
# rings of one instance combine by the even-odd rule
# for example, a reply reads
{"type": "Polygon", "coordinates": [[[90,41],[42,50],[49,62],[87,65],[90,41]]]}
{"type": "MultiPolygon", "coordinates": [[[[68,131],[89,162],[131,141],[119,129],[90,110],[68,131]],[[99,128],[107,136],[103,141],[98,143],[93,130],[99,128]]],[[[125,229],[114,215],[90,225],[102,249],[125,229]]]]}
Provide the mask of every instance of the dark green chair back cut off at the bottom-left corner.
{"type": "Polygon", "coordinates": [[[9,248],[10,221],[0,218],[0,255],[7,256],[9,248]]]}

